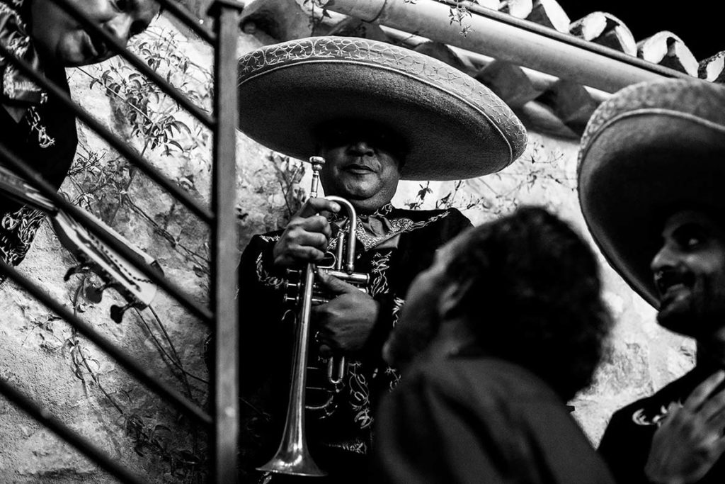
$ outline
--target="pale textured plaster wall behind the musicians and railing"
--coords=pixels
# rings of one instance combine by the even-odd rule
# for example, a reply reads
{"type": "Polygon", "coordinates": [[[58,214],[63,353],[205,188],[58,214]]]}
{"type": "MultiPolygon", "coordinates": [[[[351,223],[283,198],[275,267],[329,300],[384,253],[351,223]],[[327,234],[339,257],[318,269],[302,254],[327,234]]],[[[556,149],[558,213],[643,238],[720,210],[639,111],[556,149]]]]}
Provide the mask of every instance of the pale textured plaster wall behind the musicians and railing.
{"type": "MultiPolygon", "coordinates": [[[[184,53],[196,64],[209,67],[211,54],[206,46],[161,18],[157,27],[183,36],[184,53]]],[[[241,35],[239,54],[274,40],[257,30],[241,35]]],[[[96,75],[103,66],[94,71],[96,75]]],[[[130,127],[117,101],[98,87],[89,89],[88,75],[70,70],[72,92],[86,109],[113,131],[131,139],[130,127]]],[[[85,128],[80,131],[84,146],[101,152],[105,160],[115,154],[85,128]]],[[[455,140],[452,140],[455,142],[455,140]]],[[[576,226],[588,238],[579,213],[575,192],[576,143],[531,133],[525,155],[502,173],[465,181],[428,184],[431,190],[421,201],[423,186],[403,182],[394,198],[398,206],[421,202],[431,208],[451,194],[448,201],[463,210],[473,223],[482,223],[498,213],[506,213],[521,203],[547,205],[576,226]]],[[[203,150],[202,150],[203,151],[203,150]]],[[[171,179],[186,186],[197,200],[207,202],[210,166],[208,152],[163,156],[148,153],[152,163],[171,179]],[[191,181],[191,182],[190,182],[191,181]]],[[[283,223],[285,199],[280,172],[268,160],[265,147],[238,138],[239,248],[254,233],[283,223]]],[[[300,186],[309,187],[308,177],[300,186]]],[[[78,193],[78,186],[67,182],[62,189],[78,193]]],[[[133,205],[120,206],[114,218],[115,229],[161,263],[165,273],[200,302],[207,298],[207,231],[194,216],[178,205],[143,176],[136,176],[128,188],[133,205]],[[183,249],[183,250],[182,250],[183,249]],[[190,253],[193,253],[190,255],[190,253]]],[[[109,202],[110,204],[110,202],[109,202]]],[[[112,205],[112,204],[111,204],[112,205]]],[[[107,213],[115,206],[103,205],[107,213]]],[[[658,328],[654,311],[607,266],[603,258],[605,297],[616,317],[608,360],[602,365],[593,387],[572,402],[592,443],[597,443],[608,417],[619,406],[666,384],[692,366],[692,344],[658,328]]],[[[109,307],[118,303],[109,291],[101,303],[91,303],[80,294],[80,276],[65,282],[63,275],[74,265],[72,257],[59,246],[49,225],[36,237],[33,249],[20,267],[57,300],[112,342],[120,345],[136,361],[158,374],[180,392],[204,405],[207,387],[188,377],[188,385],[171,363],[173,353],[164,340],[154,313],[127,313],[122,324],[109,319],[109,307]],[[154,339],[155,338],[155,339],[154,339]],[[159,350],[159,340],[165,350],[159,350]]],[[[91,276],[89,282],[97,282],[91,276]]],[[[162,321],[178,360],[187,372],[207,378],[203,343],[207,329],[166,295],[159,294],[154,311],[162,321]]],[[[485,310],[485,308],[482,308],[485,310]]],[[[0,375],[41,403],[49,413],[72,429],[93,440],[118,462],[128,465],[149,482],[193,483],[204,478],[207,458],[206,435],[189,424],[170,406],[104,355],[86,338],[73,332],[46,308],[25,295],[11,282],[0,286],[0,375]]],[[[0,483],[106,483],[115,482],[95,464],[57,439],[41,424],[0,398],[0,483]]]]}

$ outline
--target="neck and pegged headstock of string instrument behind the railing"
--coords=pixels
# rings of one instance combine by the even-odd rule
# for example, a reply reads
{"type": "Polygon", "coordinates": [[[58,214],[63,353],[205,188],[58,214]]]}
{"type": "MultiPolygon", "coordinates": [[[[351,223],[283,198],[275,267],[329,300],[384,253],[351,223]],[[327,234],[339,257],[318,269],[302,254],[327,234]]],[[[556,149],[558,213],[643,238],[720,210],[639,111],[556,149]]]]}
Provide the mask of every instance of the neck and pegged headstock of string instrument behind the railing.
{"type": "Polygon", "coordinates": [[[139,250],[117,231],[94,216],[96,224],[117,242],[128,247],[136,257],[128,261],[122,255],[105,245],[91,234],[70,215],[57,208],[51,200],[38,192],[27,181],[7,168],[0,166],[0,194],[30,205],[43,211],[48,216],[58,240],[78,260],[78,266],[68,269],[64,279],[67,281],[73,274],[93,272],[103,281],[101,287],[88,287],[86,296],[94,303],[101,300],[104,290],[116,290],[126,300],[123,306],[111,306],[111,319],[120,323],[123,313],[130,308],[144,309],[149,306],[158,291],[158,287],[150,281],[136,266],[146,265],[163,275],[159,263],[150,255],[139,250]]]}

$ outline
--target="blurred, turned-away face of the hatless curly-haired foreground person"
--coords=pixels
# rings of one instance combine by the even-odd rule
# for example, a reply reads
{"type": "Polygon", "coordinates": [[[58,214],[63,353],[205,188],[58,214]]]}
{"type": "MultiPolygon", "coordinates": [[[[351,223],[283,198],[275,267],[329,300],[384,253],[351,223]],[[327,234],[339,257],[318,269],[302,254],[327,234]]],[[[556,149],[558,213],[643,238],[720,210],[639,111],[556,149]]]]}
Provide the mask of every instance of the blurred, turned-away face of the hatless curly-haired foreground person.
{"type": "Polygon", "coordinates": [[[442,321],[439,303],[444,288],[453,284],[446,268],[456,250],[456,241],[437,250],[431,266],[410,283],[399,320],[383,348],[389,364],[397,367],[409,364],[436,336],[442,321]]]}

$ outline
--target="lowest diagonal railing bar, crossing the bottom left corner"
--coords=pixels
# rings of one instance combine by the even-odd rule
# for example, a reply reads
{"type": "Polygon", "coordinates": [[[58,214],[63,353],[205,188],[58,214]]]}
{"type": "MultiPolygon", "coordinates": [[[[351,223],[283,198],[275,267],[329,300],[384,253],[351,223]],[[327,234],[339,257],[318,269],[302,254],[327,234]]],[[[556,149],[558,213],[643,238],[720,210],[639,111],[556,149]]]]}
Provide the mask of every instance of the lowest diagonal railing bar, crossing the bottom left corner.
{"type": "Polygon", "coordinates": [[[146,480],[132,474],[125,466],[109,457],[104,451],[101,451],[101,449],[61,422],[57,417],[52,416],[48,409],[39,406],[32,398],[17,390],[17,388],[13,387],[4,378],[0,378],[0,394],[5,395],[19,409],[25,411],[25,413],[29,414],[30,417],[33,417],[38,422],[41,422],[41,424],[55,432],[60,438],[77,448],[82,454],[110,472],[120,482],[130,484],[146,483],[146,480]]]}

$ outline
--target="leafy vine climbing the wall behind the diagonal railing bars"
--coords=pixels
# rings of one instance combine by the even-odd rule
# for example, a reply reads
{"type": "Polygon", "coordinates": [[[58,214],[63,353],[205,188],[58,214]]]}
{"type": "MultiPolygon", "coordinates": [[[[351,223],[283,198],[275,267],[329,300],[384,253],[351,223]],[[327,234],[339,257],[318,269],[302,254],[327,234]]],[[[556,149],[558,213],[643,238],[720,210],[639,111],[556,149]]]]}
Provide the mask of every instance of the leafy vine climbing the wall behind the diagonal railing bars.
{"type": "MultiPolygon", "coordinates": [[[[212,76],[210,72],[194,64],[183,53],[183,39],[173,32],[151,28],[142,36],[134,38],[129,48],[147,65],[162,75],[178,91],[204,110],[210,110],[212,102],[212,76]]],[[[102,65],[80,69],[90,78],[91,89],[102,89],[115,107],[120,123],[130,130],[130,141],[136,143],[142,157],[174,157],[175,160],[197,160],[210,156],[210,131],[196,118],[180,110],[173,99],[168,98],[154,83],[140,75],[125,61],[114,59],[102,65]]],[[[95,213],[109,225],[115,222],[118,210],[127,208],[147,223],[168,246],[181,257],[191,261],[194,272],[204,277],[209,274],[208,244],[194,237],[183,239],[183,228],[187,226],[185,210],[179,210],[176,202],[164,214],[147,213],[130,190],[138,171],[123,157],[111,150],[92,149],[86,137],[81,136],[78,156],[69,173],[70,188],[66,196],[76,205],[95,213]],[[182,231],[173,234],[170,225],[181,226],[182,231]]],[[[196,192],[194,174],[181,173],[176,177],[179,186],[186,191],[196,192]]],[[[71,298],[74,311],[88,311],[94,303],[83,297],[86,288],[98,285],[95,276],[84,274],[74,279],[75,290],[71,298]]],[[[205,283],[199,284],[204,287],[205,283]]],[[[208,283],[206,283],[208,287],[208,283]]],[[[152,341],[159,361],[164,361],[171,377],[178,379],[183,392],[191,400],[204,397],[208,382],[188,372],[183,355],[178,353],[172,335],[162,317],[153,308],[152,320],[144,316],[146,311],[136,311],[136,316],[125,318],[124,324],[136,321],[145,337],[152,341]],[[191,380],[202,384],[192,385],[191,380]]],[[[48,324],[38,324],[43,334],[48,333],[48,324]]],[[[199,336],[202,337],[202,332],[199,336]]],[[[57,338],[57,335],[53,335],[57,338]]],[[[49,336],[50,337],[50,336],[49,336]]],[[[58,348],[55,341],[49,348],[58,348]]],[[[73,374],[87,388],[93,388],[104,395],[118,412],[119,424],[133,442],[133,449],[149,459],[167,462],[174,482],[202,483],[206,480],[205,436],[201,429],[189,422],[175,420],[175,417],[144,415],[145,400],[136,401],[133,392],[123,388],[112,388],[114,383],[103,380],[99,361],[88,350],[84,339],[66,338],[60,348],[70,359],[73,374]]]]}

